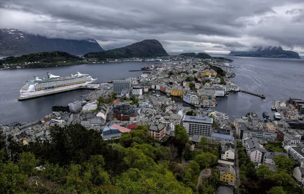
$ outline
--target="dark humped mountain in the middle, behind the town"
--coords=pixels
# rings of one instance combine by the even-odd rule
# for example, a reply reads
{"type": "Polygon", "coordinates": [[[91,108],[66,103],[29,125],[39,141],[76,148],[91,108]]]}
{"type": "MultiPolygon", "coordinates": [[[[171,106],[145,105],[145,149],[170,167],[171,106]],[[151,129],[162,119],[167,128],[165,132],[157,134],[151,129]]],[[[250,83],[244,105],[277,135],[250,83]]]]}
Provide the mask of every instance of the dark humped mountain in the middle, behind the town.
{"type": "Polygon", "coordinates": [[[168,56],[163,45],[155,39],[147,39],[121,48],[108,51],[85,54],[85,58],[123,59],[133,57],[163,57],[168,56]]]}

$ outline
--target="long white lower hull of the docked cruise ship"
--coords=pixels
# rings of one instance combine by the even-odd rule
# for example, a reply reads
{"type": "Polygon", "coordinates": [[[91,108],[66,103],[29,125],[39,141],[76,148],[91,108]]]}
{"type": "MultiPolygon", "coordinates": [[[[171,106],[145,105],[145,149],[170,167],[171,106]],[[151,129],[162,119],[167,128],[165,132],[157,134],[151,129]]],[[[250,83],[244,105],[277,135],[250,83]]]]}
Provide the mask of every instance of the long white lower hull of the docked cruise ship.
{"type": "Polygon", "coordinates": [[[47,90],[32,91],[32,92],[20,92],[20,98],[27,98],[27,97],[30,97],[30,96],[46,95],[48,93],[59,93],[60,91],[64,92],[66,90],[71,90],[71,89],[75,89],[75,88],[84,87],[88,84],[93,83],[94,81],[95,80],[89,81],[89,82],[86,82],[86,83],[83,83],[83,84],[76,84],[76,85],[58,87],[58,88],[47,89],[47,90]]]}

